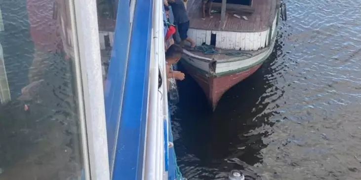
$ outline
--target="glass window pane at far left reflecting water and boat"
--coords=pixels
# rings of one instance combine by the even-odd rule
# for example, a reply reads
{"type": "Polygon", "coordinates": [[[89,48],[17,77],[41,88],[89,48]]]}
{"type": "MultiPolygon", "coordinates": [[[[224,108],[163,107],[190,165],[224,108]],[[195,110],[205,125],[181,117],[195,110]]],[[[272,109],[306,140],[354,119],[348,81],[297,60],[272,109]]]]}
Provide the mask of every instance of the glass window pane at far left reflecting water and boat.
{"type": "Polygon", "coordinates": [[[80,180],[69,2],[1,0],[2,72],[11,100],[0,104],[0,180],[80,180]]]}

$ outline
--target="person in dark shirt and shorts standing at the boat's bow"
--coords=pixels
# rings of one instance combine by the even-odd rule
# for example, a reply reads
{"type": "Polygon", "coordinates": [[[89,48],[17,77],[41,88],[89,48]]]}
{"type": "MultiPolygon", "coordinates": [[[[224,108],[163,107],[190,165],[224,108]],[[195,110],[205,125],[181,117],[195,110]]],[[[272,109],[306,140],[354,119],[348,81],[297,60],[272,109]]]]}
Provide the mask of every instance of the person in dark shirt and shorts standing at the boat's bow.
{"type": "Polygon", "coordinates": [[[191,43],[191,48],[196,46],[196,42],[188,37],[189,18],[183,0],[164,0],[164,5],[172,7],[174,23],[177,25],[178,33],[181,38],[180,45],[183,47],[184,41],[191,43]]]}

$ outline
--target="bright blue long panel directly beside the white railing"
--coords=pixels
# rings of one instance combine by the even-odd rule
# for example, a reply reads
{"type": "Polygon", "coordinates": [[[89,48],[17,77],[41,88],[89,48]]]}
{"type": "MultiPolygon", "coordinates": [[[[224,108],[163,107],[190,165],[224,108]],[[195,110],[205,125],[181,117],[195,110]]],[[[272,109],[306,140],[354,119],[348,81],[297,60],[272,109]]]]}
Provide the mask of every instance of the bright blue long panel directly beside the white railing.
{"type": "Polygon", "coordinates": [[[153,0],[137,0],[126,69],[113,180],[141,180],[142,178],[152,9],[153,0]]]}

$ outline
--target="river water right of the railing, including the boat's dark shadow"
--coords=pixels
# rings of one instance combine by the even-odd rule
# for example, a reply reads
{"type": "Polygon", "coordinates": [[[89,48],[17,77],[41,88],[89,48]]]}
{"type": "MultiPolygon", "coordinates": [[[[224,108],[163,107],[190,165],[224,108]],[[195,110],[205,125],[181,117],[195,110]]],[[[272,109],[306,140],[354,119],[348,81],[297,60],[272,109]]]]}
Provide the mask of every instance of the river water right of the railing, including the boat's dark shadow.
{"type": "Polygon", "coordinates": [[[206,107],[188,75],[173,106],[188,180],[361,177],[361,0],[287,1],[288,20],[260,70],[206,107]],[[188,78],[187,78],[188,77],[188,78]]]}

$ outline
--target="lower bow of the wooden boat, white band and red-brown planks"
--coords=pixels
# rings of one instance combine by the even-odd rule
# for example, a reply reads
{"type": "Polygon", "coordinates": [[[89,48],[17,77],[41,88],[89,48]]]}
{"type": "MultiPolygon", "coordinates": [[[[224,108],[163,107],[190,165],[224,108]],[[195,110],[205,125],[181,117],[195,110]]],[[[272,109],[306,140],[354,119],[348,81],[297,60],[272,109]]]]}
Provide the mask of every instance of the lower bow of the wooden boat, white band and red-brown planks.
{"type": "Polygon", "coordinates": [[[233,59],[232,61],[209,61],[192,52],[184,50],[182,65],[197,81],[204,91],[208,102],[215,110],[223,94],[231,87],[256,72],[270,56],[275,45],[276,36],[271,44],[259,50],[249,58],[233,59]]]}

